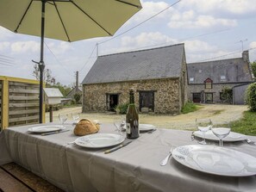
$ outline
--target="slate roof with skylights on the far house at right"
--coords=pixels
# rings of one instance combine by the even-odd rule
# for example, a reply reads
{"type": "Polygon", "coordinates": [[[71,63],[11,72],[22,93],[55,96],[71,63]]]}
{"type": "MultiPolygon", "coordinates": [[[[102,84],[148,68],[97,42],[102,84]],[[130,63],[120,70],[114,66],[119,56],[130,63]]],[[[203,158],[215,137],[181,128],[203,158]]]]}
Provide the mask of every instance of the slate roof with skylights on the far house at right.
{"type": "Polygon", "coordinates": [[[187,64],[187,71],[189,84],[203,84],[208,77],[213,84],[253,81],[249,64],[243,58],[190,63],[187,64]]]}

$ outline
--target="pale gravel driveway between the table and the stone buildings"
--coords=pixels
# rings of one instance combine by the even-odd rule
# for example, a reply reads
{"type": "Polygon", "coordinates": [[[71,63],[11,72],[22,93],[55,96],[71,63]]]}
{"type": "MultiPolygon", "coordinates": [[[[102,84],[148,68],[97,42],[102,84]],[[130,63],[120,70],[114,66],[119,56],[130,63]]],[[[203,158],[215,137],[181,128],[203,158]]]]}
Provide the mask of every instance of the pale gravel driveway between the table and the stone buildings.
{"type": "MultiPolygon", "coordinates": [[[[140,114],[140,123],[153,124],[157,127],[172,129],[191,130],[196,129],[196,118],[210,118],[213,122],[236,121],[242,117],[242,113],[247,110],[246,105],[222,105],[222,104],[202,104],[202,108],[196,112],[181,115],[144,115],[140,114]]],[[[53,122],[59,121],[58,115],[68,114],[68,120],[72,121],[72,113],[81,113],[82,108],[63,108],[53,112],[53,122]]],[[[80,118],[98,120],[100,122],[112,123],[117,115],[109,113],[86,113],[80,118]]],[[[120,115],[122,116],[122,115],[120,115]]],[[[49,114],[46,113],[46,121],[49,121],[49,114]]]]}

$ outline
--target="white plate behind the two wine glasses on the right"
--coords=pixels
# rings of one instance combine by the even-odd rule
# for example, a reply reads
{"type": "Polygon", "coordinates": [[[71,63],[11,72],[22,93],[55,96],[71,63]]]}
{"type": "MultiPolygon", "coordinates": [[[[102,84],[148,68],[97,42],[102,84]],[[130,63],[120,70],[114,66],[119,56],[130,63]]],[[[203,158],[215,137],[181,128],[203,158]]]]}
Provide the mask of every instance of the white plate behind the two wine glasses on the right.
{"type": "MultiPolygon", "coordinates": [[[[196,137],[203,138],[203,133],[200,131],[196,131],[193,133],[196,137]]],[[[219,140],[214,133],[212,133],[211,130],[207,131],[205,133],[205,139],[209,140],[219,140]]],[[[223,141],[240,141],[240,140],[245,140],[247,139],[246,135],[241,134],[241,133],[235,133],[235,132],[230,132],[226,138],[223,139],[223,141]]]]}

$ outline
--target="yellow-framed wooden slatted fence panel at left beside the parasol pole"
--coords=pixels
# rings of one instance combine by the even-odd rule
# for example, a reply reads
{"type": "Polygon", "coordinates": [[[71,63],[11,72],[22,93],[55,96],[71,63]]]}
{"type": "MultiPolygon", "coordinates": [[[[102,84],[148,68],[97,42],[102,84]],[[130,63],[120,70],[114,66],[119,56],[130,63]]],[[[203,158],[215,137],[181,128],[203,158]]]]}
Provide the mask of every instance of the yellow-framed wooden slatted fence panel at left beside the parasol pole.
{"type": "Polygon", "coordinates": [[[0,130],[39,123],[39,82],[0,76],[0,108],[0,130]]]}

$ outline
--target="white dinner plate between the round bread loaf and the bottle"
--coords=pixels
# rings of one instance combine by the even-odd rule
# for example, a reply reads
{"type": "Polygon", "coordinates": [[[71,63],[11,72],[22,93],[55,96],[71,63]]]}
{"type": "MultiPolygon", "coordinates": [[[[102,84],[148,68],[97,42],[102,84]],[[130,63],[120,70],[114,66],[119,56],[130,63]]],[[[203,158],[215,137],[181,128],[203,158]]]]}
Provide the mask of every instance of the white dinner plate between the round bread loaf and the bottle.
{"type": "Polygon", "coordinates": [[[95,133],[79,137],[75,140],[78,146],[88,148],[103,148],[108,146],[116,146],[124,141],[124,137],[119,134],[111,133],[95,133]]]}

